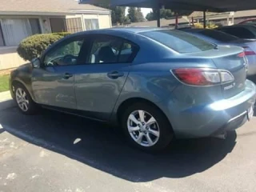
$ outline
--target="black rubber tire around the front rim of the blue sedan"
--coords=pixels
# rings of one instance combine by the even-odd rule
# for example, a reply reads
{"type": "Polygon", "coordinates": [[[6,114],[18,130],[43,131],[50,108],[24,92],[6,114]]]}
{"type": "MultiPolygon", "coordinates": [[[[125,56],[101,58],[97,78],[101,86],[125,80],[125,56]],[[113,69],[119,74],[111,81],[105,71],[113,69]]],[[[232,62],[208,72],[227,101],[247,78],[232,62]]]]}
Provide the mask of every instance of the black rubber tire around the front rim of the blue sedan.
{"type": "Polygon", "coordinates": [[[14,100],[17,103],[18,106],[18,110],[20,110],[23,114],[34,114],[37,106],[36,103],[33,101],[33,99],[30,96],[30,93],[28,92],[28,90],[26,90],[26,87],[23,86],[21,83],[17,83],[16,85],[14,85],[14,100]],[[21,88],[22,90],[24,90],[26,92],[26,97],[29,100],[29,105],[28,105],[28,110],[24,111],[22,110],[19,106],[18,106],[18,102],[17,102],[17,98],[16,98],[16,90],[18,90],[18,88],[21,88]]]}

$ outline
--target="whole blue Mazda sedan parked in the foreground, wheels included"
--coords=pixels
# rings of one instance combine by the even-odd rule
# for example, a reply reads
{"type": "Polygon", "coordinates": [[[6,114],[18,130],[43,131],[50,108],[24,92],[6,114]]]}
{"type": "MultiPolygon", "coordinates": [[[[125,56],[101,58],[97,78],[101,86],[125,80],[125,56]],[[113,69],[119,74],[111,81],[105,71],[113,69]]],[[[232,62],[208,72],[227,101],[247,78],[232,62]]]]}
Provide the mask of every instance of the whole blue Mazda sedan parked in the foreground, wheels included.
{"type": "Polygon", "coordinates": [[[40,105],[121,125],[142,150],[234,130],[256,93],[240,47],[153,28],[69,35],[14,70],[10,88],[24,114],[40,105]]]}

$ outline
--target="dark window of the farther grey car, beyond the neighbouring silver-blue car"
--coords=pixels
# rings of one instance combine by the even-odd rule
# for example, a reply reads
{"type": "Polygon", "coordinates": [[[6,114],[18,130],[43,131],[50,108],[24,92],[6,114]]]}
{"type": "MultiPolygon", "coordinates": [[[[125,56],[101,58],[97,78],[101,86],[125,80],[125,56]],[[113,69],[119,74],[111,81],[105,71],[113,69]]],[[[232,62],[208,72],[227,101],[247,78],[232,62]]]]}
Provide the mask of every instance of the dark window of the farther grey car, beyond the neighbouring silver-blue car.
{"type": "Polygon", "coordinates": [[[244,27],[229,27],[221,29],[227,34],[232,34],[238,38],[255,38],[254,34],[244,27]]]}

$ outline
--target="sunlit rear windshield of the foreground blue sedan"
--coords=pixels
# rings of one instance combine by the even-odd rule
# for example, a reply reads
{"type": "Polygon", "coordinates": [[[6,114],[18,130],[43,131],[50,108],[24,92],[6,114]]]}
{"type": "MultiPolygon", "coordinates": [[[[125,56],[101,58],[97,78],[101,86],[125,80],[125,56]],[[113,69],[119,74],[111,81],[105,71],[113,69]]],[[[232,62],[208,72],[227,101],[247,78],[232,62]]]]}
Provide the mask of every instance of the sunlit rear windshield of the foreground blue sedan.
{"type": "Polygon", "coordinates": [[[206,42],[194,35],[179,30],[150,30],[141,34],[170,47],[178,53],[212,50],[215,47],[210,42],[206,42]]]}

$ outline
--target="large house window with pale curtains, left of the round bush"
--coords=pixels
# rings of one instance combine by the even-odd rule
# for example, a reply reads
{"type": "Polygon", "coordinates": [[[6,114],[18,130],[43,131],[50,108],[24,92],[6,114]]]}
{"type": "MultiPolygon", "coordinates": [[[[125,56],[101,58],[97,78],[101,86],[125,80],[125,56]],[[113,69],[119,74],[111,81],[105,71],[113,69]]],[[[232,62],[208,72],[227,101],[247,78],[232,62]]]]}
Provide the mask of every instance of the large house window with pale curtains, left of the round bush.
{"type": "MultiPolygon", "coordinates": [[[[1,19],[2,38],[5,46],[18,46],[22,39],[32,34],[40,34],[40,25],[37,18],[1,19]]],[[[0,32],[0,46],[1,32],[0,32]]]]}

